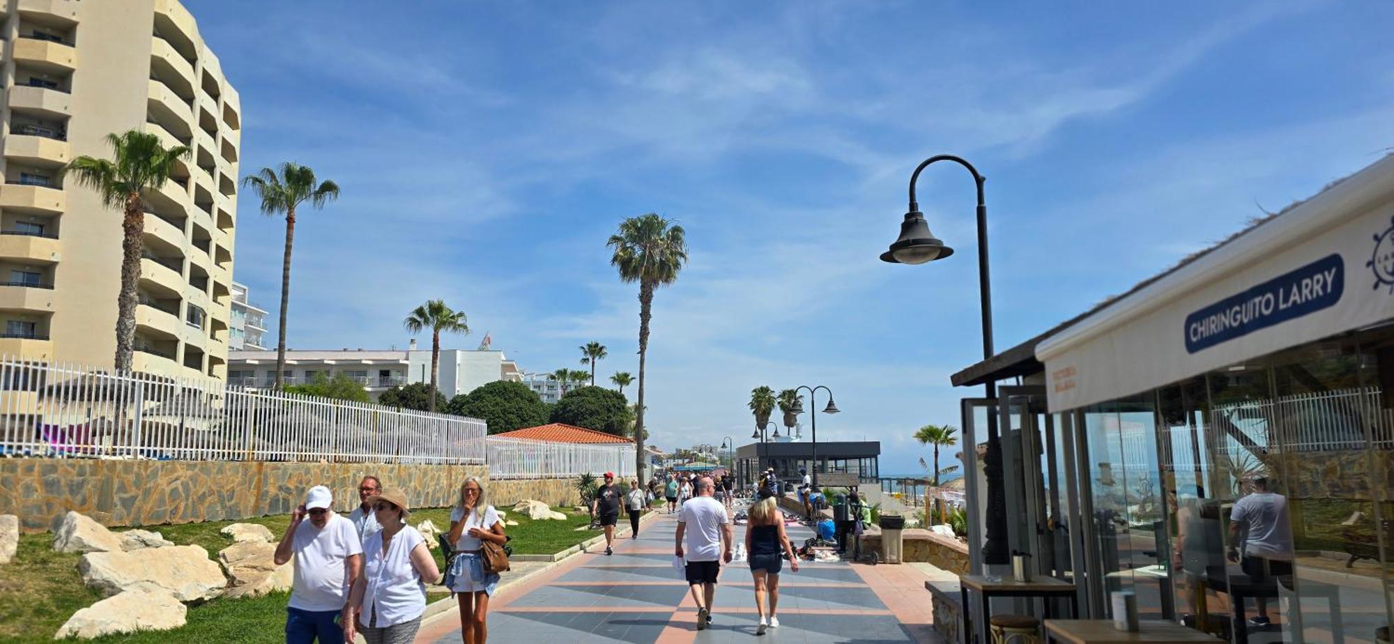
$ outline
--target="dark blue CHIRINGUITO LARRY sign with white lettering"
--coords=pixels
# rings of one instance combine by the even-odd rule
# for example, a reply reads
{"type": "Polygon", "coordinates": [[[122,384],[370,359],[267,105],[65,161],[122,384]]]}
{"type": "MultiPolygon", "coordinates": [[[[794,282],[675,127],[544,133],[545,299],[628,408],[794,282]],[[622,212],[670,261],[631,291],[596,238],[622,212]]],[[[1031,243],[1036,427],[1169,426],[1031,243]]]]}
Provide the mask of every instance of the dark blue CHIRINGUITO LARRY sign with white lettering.
{"type": "Polygon", "coordinates": [[[1345,262],[1327,255],[1186,315],[1186,353],[1333,307],[1344,290],[1345,262]]]}

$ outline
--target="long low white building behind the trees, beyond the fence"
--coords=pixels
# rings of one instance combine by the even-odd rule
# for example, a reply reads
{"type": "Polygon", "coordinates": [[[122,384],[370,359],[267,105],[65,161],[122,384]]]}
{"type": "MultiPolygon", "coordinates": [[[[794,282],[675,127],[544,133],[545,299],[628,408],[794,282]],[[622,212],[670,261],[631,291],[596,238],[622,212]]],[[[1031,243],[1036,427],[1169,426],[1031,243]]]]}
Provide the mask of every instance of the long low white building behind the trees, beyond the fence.
{"type": "MultiPolygon", "coordinates": [[[[376,400],[399,385],[431,382],[431,350],[418,350],[415,340],[406,351],[342,348],[337,351],[286,351],[283,382],[300,385],[318,376],[344,374],[364,383],[376,400]]],[[[498,350],[442,348],[436,386],[447,400],[495,381],[520,382],[517,364],[498,350]]],[[[255,389],[276,383],[276,351],[229,353],[227,382],[255,389]]]]}

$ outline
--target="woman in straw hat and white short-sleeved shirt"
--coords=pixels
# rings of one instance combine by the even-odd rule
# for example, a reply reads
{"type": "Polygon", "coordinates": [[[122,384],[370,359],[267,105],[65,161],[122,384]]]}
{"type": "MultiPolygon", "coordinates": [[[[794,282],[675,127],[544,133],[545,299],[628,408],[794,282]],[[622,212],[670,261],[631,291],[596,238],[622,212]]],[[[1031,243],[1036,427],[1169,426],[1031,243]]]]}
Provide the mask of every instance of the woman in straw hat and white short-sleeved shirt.
{"type": "Polygon", "coordinates": [[[417,528],[411,506],[397,489],[382,489],[372,505],[378,530],[364,541],[362,574],[348,592],[340,623],[344,641],[362,631],[368,644],[411,644],[427,611],[427,581],[441,577],[435,556],[417,528]]]}

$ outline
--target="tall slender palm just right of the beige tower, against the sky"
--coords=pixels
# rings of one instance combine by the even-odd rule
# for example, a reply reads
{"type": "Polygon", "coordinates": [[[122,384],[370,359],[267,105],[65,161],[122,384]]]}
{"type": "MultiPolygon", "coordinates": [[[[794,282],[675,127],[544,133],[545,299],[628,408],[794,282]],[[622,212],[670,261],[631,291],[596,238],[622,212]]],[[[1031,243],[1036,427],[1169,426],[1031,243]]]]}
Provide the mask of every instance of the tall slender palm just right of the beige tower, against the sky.
{"type": "MultiPolygon", "coordinates": [[[[296,209],[301,204],[309,202],[315,209],[325,208],[325,204],[339,198],[339,184],[321,181],[315,184],[315,171],[308,166],[286,162],[269,167],[259,173],[243,177],[243,185],[251,185],[261,198],[262,215],[275,216],[286,213],[286,252],[280,259],[280,328],[276,329],[276,389],[282,386],[282,375],[286,372],[286,314],[290,309],[290,248],[296,241],[296,209]]],[[[432,399],[435,400],[435,399],[432,399]]]]}

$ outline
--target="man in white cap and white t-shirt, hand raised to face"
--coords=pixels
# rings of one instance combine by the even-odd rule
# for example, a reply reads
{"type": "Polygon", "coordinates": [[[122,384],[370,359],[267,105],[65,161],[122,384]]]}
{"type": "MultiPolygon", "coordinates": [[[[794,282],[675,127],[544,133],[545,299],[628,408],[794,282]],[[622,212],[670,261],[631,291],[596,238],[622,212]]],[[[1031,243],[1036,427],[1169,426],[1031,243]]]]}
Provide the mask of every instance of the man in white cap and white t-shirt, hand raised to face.
{"type": "Polygon", "coordinates": [[[286,644],[340,644],[344,631],[336,618],[348,588],[362,572],[362,542],[353,523],[335,514],[329,488],[315,485],[290,514],[290,527],[276,544],[273,560],[296,560],[290,605],[286,606],[286,644]],[[309,526],[305,526],[309,516],[309,526]]]}

